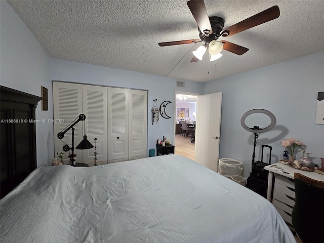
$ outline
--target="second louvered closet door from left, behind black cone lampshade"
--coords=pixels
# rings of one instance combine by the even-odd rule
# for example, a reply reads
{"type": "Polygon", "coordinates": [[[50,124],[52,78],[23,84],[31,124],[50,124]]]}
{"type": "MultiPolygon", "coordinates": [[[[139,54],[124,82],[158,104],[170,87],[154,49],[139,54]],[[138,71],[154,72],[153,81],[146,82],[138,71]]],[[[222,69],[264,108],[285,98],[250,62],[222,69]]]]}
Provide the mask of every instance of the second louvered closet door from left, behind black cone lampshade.
{"type": "Polygon", "coordinates": [[[95,146],[83,150],[83,163],[94,166],[96,151],[97,165],[107,164],[107,88],[83,85],[82,90],[83,113],[86,115],[86,135],[87,139],[95,146]]]}

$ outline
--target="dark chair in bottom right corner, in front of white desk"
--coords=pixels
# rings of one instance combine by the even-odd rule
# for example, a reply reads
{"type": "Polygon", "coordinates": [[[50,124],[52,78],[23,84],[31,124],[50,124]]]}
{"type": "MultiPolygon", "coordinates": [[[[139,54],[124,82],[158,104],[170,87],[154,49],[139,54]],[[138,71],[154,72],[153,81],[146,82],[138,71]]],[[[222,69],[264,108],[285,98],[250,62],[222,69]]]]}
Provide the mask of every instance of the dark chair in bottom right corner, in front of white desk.
{"type": "Polygon", "coordinates": [[[324,182],[294,174],[295,206],[292,222],[303,243],[324,242],[324,182]]]}

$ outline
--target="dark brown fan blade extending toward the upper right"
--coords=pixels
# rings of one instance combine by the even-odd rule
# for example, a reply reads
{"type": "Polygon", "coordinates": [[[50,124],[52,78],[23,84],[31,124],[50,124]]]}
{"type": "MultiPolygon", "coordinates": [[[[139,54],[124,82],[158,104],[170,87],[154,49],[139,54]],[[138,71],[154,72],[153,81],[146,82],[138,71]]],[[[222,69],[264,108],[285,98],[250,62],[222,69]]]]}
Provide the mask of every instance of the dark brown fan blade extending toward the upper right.
{"type": "Polygon", "coordinates": [[[267,10],[264,10],[250,18],[247,18],[237,24],[234,24],[226,29],[224,29],[222,33],[228,32],[228,35],[224,34],[223,36],[230,36],[233,34],[236,34],[238,32],[250,29],[252,27],[255,27],[259,24],[266,23],[270,20],[278,18],[280,15],[279,7],[278,6],[273,6],[267,10]]]}

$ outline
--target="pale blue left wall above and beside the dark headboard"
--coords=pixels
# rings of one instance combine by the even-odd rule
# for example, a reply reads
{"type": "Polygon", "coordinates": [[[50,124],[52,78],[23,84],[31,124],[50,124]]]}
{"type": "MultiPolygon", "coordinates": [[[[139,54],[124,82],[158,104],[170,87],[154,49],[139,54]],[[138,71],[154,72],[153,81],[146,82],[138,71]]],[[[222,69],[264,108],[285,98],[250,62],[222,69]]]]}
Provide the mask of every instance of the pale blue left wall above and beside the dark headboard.
{"type": "MultiPolygon", "coordinates": [[[[50,56],[5,1],[0,2],[0,83],[2,86],[41,96],[48,89],[48,111],[36,107],[37,119],[53,119],[50,56]]],[[[54,156],[53,125],[36,124],[37,166],[48,165],[54,156]]]]}

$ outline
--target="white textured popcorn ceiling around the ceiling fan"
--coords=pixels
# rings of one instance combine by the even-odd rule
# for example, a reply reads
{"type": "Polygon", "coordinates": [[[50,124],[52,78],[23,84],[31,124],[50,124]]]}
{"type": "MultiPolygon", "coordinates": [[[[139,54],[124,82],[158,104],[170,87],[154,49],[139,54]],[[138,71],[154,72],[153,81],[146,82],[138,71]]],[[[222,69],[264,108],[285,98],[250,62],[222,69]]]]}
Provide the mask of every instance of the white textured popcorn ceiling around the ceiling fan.
{"type": "Polygon", "coordinates": [[[7,1],[51,57],[208,82],[324,50],[324,1],[206,0],[209,16],[224,28],[277,5],[280,16],[226,41],[249,48],[222,51],[210,62],[190,63],[201,44],[159,47],[159,42],[199,38],[186,0],[7,1]]]}

